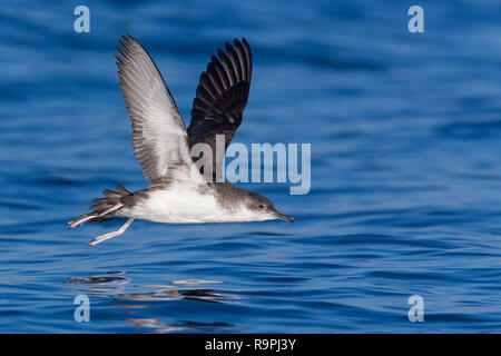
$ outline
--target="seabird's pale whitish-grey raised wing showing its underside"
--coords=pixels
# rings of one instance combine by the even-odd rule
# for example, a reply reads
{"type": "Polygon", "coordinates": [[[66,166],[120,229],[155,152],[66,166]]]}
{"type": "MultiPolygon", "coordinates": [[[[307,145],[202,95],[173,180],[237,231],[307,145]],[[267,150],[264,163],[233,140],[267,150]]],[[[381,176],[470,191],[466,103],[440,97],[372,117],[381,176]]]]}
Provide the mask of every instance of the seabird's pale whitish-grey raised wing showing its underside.
{"type": "Polygon", "coordinates": [[[130,34],[120,40],[117,58],[120,89],[132,121],[134,154],[151,182],[169,168],[190,167],[188,137],[176,102],[157,66],[130,34]]]}

